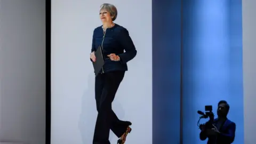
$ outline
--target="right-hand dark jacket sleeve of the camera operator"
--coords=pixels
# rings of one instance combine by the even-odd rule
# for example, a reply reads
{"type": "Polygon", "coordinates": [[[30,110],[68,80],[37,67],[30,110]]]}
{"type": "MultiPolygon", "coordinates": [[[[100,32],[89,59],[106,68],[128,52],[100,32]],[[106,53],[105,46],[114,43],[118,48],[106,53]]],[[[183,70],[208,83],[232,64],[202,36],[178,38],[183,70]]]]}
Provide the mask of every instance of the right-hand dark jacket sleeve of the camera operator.
{"type": "Polygon", "coordinates": [[[222,140],[232,143],[235,140],[236,124],[233,122],[228,126],[228,133],[219,133],[222,140]]]}

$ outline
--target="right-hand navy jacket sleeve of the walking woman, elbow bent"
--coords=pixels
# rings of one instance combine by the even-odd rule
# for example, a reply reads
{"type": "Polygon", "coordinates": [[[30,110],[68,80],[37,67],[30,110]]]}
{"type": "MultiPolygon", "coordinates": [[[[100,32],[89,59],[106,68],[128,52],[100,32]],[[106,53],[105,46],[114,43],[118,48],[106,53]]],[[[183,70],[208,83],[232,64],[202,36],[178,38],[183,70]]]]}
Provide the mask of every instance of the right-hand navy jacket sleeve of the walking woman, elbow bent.
{"type": "Polygon", "coordinates": [[[126,30],[125,28],[122,28],[121,30],[121,34],[119,35],[119,41],[125,52],[122,54],[118,54],[118,56],[121,63],[126,63],[135,57],[135,55],[137,54],[137,50],[135,49],[128,30],[126,30]]]}

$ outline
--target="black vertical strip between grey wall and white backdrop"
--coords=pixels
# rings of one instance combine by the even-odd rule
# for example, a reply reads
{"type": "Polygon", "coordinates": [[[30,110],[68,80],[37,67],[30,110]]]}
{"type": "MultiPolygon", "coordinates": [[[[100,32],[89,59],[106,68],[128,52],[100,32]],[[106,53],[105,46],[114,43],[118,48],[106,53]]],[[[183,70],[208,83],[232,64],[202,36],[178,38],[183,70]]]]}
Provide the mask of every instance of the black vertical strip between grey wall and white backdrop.
{"type": "Polygon", "coordinates": [[[45,143],[51,143],[51,0],[45,0],[46,17],[46,121],[45,143]]]}

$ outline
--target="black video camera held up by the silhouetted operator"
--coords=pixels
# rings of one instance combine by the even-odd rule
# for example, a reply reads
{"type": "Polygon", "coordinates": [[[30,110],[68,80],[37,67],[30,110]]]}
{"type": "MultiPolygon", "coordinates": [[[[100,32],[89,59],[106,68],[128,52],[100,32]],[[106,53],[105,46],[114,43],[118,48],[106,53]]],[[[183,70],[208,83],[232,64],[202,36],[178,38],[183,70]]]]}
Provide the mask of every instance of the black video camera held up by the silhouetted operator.
{"type": "Polygon", "coordinates": [[[205,114],[203,111],[200,111],[200,110],[198,110],[197,113],[199,115],[202,115],[201,117],[199,117],[199,120],[197,122],[197,126],[199,127],[199,129],[202,130],[203,125],[205,125],[205,129],[212,129],[213,128],[212,124],[214,120],[214,114],[212,113],[212,106],[205,106],[205,114]],[[207,123],[199,124],[202,118],[208,118],[208,117],[210,118],[210,120],[207,123]]]}

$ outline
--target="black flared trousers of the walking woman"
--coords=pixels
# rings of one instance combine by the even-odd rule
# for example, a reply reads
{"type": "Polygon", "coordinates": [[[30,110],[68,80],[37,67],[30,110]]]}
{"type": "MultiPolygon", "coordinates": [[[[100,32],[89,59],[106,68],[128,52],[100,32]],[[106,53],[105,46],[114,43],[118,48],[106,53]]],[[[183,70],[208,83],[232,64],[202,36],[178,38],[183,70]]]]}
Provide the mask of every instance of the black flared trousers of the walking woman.
{"type": "Polygon", "coordinates": [[[97,122],[94,130],[93,144],[110,144],[110,129],[119,138],[126,129],[114,111],[111,103],[122,82],[125,71],[111,71],[109,73],[98,74],[95,77],[95,99],[98,110],[97,122]]]}

